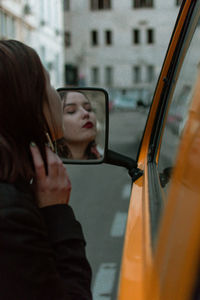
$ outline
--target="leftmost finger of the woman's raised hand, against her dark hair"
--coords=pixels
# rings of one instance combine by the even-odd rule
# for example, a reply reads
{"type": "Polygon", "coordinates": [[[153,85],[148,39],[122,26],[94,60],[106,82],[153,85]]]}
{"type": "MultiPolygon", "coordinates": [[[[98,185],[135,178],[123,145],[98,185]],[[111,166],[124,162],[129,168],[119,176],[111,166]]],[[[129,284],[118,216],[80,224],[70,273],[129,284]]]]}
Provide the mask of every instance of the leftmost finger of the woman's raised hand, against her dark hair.
{"type": "Polygon", "coordinates": [[[30,145],[30,150],[31,150],[37,178],[43,179],[46,177],[46,173],[45,173],[44,162],[40,154],[40,151],[34,143],[30,145]]]}

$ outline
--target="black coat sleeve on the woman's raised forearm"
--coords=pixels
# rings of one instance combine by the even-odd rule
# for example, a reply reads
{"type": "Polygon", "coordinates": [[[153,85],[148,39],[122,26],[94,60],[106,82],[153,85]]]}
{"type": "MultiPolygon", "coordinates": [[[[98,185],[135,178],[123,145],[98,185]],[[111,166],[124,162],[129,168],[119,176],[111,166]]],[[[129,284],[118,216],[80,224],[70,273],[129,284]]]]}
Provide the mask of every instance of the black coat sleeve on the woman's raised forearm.
{"type": "Polygon", "coordinates": [[[92,299],[91,268],[85,254],[86,243],[72,208],[68,205],[48,206],[42,208],[42,214],[56,254],[56,268],[70,287],[72,299],[92,299]]]}

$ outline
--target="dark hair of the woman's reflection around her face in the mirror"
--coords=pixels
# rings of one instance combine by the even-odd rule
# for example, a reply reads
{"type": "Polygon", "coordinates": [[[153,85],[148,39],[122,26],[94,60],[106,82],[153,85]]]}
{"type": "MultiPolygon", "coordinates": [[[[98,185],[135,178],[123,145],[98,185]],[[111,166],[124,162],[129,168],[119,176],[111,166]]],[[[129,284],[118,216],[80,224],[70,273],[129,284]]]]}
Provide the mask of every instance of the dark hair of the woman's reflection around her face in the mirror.
{"type": "MultiPolygon", "coordinates": [[[[73,90],[69,90],[69,92],[72,92],[73,90]]],[[[65,99],[67,98],[67,94],[69,93],[66,90],[64,91],[59,91],[59,95],[60,95],[60,99],[62,101],[62,105],[64,108],[64,104],[65,104],[65,99]]],[[[80,91],[80,90],[74,90],[74,92],[79,93],[81,95],[83,95],[89,102],[90,99],[88,98],[88,96],[80,91]]],[[[85,156],[87,157],[87,159],[97,159],[98,157],[98,152],[94,151],[94,149],[96,148],[96,142],[91,141],[90,143],[88,143],[88,146],[85,150],[85,156]]],[[[67,146],[67,140],[65,138],[60,139],[59,141],[57,141],[57,150],[58,150],[58,154],[62,157],[67,157],[69,159],[72,158],[72,154],[70,152],[69,147],[67,146]]]]}

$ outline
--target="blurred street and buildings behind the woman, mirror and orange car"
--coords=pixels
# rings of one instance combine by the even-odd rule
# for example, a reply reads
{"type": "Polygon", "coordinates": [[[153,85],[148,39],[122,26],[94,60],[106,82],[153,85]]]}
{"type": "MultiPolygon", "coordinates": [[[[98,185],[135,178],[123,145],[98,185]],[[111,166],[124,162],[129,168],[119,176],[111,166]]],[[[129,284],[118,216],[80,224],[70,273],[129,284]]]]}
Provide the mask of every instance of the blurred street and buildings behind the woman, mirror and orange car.
{"type": "MultiPolygon", "coordinates": [[[[33,47],[52,84],[109,93],[109,147],[136,158],[180,0],[0,0],[0,38],[33,47]]],[[[87,240],[94,300],[115,300],[131,180],[110,165],[67,165],[87,240]]],[[[134,270],[133,270],[134,272],[134,270]]]]}

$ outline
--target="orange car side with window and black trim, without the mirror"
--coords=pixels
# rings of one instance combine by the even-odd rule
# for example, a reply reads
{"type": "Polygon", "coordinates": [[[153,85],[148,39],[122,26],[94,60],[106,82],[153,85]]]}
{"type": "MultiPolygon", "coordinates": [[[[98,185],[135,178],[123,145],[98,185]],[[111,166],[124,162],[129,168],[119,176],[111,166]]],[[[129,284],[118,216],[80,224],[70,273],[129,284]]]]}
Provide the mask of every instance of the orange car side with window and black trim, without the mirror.
{"type": "Polygon", "coordinates": [[[138,153],[118,299],[192,299],[200,248],[200,1],[183,1],[138,153]],[[169,181],[169,182],[168,182],[169,181]]]}

